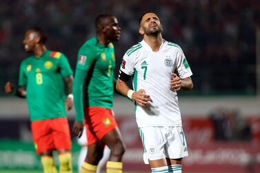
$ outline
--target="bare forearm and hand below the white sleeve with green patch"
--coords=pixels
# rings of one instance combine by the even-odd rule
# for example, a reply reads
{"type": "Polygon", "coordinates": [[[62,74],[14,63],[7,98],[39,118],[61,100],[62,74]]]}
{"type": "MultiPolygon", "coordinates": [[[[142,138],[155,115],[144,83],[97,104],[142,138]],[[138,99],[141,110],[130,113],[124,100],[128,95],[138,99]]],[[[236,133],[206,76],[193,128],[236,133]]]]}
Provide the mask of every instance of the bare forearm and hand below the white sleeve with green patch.
{"type": "Polygon", "coordinates": [[[177,74],[172,73],[172,80],[170,81],[170,86],[175,91],[191,90],[193,88],[193,83],[190,77],[181,79],[177,76],[177,74]]]}

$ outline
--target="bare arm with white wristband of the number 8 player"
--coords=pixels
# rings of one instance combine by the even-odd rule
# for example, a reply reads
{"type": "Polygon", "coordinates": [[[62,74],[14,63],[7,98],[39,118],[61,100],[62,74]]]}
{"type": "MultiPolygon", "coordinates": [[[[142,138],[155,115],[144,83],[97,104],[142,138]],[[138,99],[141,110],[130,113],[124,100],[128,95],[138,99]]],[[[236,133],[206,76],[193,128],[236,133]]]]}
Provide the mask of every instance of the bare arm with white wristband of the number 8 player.
{"type": "Polygon", "coordinates": [[[63,80],[66,84],[66,88],[68,91],[68,96],[65,100],[66,110],[71,110],[73,106],[73,95],[72,95],[73,76],[70,75],[70,77],[64,77],[63,80]]]}

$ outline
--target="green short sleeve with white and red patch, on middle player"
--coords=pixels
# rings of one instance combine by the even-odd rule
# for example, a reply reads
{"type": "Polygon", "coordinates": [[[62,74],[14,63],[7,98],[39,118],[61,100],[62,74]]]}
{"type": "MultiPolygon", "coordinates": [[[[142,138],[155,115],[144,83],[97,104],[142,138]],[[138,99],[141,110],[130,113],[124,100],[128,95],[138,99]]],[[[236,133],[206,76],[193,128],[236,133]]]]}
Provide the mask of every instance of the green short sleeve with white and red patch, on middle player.
{"type": "Polygon", "coordinates": [[[77,69],[85,70],[88,72],[92,63],[97,58],[97,50],[92,45],[83,45],[78,52],[77,69]]]}

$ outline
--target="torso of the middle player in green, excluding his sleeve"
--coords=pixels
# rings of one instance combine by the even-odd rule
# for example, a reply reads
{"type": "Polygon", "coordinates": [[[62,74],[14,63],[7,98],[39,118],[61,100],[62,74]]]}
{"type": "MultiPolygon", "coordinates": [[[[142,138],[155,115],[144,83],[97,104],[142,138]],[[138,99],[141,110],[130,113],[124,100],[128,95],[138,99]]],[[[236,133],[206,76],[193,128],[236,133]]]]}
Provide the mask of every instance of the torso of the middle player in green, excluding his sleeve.
{"type": "Polygon", "coordinates": [[[97,47],[97,57],[87,86],[88,105],[112,108],[114,67],[115,55],[112,44],[97,47]]]}

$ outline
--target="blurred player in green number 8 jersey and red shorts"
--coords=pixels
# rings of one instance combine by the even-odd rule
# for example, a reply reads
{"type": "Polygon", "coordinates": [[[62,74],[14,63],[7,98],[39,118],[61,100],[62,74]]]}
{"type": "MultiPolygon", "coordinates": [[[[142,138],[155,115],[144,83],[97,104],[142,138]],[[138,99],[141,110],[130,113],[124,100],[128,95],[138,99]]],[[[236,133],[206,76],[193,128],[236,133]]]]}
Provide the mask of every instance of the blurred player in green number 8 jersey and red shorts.
{"type": "Polygon", "coordinates": [[[33,55],[21,62],[20,88],[15,90],[14,85],[8,82],[5,90],[8,94],[27,99],[33,141],[37,154],[41,155],[44,173],[57,172],[53,150],[59,154],[59,172],[71,173],[71,141],[66,110],[73,105],[72,70],[64,54],[47,50],[46,40],[41,28],[26,31],[24,48],[33,55]]]}

